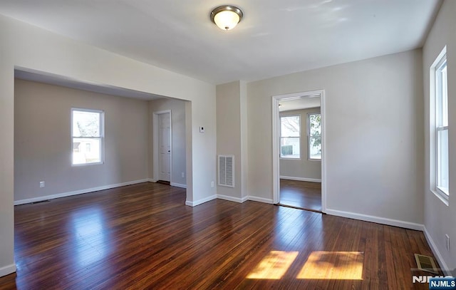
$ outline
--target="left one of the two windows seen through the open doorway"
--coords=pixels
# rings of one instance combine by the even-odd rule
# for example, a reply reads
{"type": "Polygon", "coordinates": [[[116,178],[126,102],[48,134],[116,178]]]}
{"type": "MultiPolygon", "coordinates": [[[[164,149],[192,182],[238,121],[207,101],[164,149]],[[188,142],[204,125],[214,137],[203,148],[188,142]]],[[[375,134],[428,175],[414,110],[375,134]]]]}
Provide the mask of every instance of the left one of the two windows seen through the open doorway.
{"type": "Polygon", "coordinates": [[[301,117],[299,115],[280,117],[280,157],[301,158],[301,117]]]}

